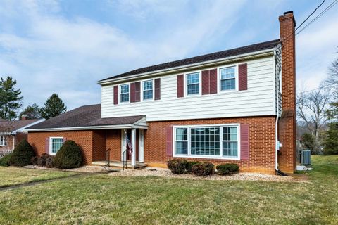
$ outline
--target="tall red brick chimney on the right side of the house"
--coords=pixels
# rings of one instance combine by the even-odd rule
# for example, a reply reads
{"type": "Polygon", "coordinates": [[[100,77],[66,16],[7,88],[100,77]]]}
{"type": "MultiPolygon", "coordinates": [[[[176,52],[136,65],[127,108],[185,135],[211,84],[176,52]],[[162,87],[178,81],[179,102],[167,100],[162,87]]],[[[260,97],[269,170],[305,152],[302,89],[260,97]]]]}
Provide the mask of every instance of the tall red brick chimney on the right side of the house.
{"type": "Polygon", "coordinates": [[[282,42],[282,117],[279,136],[282,147],[278,157],[279,169],[293,173],[296,169],[296,21],[293,11],[280,18],[280,41],[282,42]]]}

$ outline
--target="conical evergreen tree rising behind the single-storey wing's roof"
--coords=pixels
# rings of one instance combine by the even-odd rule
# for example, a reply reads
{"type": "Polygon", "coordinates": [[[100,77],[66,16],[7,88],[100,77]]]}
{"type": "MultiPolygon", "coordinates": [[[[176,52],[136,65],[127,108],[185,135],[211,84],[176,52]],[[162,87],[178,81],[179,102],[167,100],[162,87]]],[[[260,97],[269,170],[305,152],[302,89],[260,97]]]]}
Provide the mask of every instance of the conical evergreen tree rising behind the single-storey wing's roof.
{"type": "Polygon", "coordinates": [[[61,115],[66,111],[67,107],[65,107],[65,104],[61,98],[54,93],[47,99],[46,103],[44,103],[44,107],[40,110],[40,115],[42,118],[48,120],[49,118],[61,115]]]}

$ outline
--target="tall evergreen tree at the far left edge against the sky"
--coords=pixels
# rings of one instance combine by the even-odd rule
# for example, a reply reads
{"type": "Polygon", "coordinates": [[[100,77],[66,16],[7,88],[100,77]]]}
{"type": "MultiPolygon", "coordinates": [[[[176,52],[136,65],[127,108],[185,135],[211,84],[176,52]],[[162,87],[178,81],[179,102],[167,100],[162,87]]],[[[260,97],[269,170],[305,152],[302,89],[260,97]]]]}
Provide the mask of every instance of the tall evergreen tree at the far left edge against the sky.
{"type": "Polygon", "coordinates": [[[0,79],[0,117],[6,120],[14,120],[18,117],[18,110],[21,108],[20,89],[14,89],[16,80],[12,77],[0,79]]]}

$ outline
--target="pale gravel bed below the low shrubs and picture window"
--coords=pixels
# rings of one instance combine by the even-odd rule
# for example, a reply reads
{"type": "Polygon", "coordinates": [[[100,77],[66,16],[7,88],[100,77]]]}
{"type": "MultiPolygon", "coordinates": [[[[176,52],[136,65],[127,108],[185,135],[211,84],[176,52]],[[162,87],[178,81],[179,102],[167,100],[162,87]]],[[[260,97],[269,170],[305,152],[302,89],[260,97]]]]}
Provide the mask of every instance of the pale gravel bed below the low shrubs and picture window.
{"type": "Polygon", "coordinates": [[[235,181],[275,181],[275,182],[305,182],[294,179],[292,176],[277,176],[258,173],[239,173],[231,176],[194,176],[192,174],[172,174],[169,169],[146,167],[144,169],[125,169],[108,174],[108,176],[161,176],[169,178],[195,179],[195,180],[235,180],[235,181]]]}

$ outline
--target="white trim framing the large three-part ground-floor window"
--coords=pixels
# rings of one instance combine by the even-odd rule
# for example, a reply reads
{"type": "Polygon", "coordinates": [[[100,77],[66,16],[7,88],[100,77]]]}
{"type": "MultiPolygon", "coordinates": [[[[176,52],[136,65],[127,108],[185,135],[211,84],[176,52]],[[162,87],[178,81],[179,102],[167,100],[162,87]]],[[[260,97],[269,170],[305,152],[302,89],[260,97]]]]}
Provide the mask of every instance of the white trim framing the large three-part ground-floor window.
{"type": "Polygon", "coordinates": [[[241,132],[240,124],[208,124],[208,125],[189,125],[189,126],[173,126],[173,157],[175,158],[202,158],[202,159],[218,159],[218,160],[241,160],[241,132]],[[191,136],[190,128],[193,127],[220,127],[220,155],[192,155],[191,154],[191,136]],[[223,127],[237,127],[237,157],[223,156],[223,127]],[[188,135],[188,154],[176,154],[176,128],[187,128],[188,135]]]}

